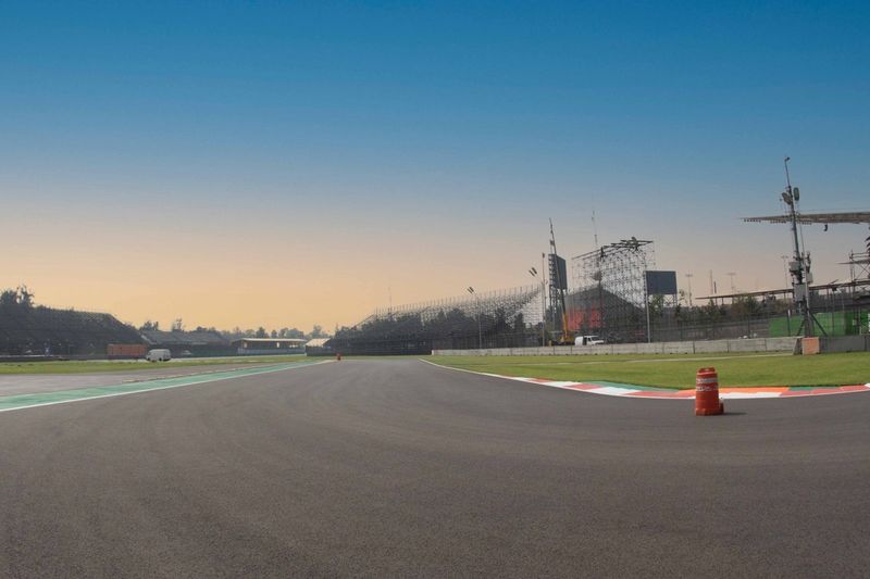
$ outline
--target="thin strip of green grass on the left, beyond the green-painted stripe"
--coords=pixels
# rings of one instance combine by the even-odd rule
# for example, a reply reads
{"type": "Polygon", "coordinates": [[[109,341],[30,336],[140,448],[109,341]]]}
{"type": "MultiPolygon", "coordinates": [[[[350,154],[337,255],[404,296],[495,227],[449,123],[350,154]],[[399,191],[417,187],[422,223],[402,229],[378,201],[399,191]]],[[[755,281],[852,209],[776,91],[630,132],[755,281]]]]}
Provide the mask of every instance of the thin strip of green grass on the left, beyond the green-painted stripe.
{"type": "Polygon", "coordinates": [[[274,356],[233,356],[201,360],[175,360],[172,362],[144,362],[135,360],[107,361],[59,361],[59,362],[8,362],[0,363],[0,375],[9,374],[91,374],[102,372],[153,370],[157,368],[187,368],[191,366],[220,366],[225,364],[274,364],[297,362],[307,358],[303,354],[274,356]]]}

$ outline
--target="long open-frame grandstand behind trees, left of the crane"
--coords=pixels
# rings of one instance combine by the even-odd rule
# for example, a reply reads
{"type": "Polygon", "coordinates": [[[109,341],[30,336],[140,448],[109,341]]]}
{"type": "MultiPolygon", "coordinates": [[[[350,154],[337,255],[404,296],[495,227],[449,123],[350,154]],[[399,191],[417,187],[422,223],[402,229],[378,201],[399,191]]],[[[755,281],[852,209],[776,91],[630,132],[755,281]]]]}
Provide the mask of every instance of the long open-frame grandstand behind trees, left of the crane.
{"type": "Polygon", "coordinates": [[[433,349],[473,349],[539,343],[545,306],[542,286],[378,307],[330,345],[345,354],[427,354],[433,349]]]}

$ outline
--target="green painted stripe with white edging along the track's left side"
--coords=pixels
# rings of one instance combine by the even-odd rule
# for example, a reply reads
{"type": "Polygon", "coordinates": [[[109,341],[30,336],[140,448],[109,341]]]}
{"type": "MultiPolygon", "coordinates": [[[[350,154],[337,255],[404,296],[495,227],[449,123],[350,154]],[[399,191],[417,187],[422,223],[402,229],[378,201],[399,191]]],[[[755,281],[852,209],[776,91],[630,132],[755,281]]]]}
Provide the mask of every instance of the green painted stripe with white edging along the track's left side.
{"type": "Polygon", "coordinates": [[[123,394],[148,392],[150,390],[164,390],[167,388],[178,388],[182,386],[192,386],[197,383],[215,382],[217,380],[244,378],[246,376],[270,374],[273,372],[301,368],[303,366],[312,366],[315,364],[323,364],[323,362],[295,362],[291,364],[281,364],[277,366],[266,366],[260,368],[241,368],[226,372],[209,372],[208,374],[191,374],[188,376],[177,376],[175,378],[157,378],[153,380],[115,386],[96,386],[92,388],[59,390],[55,392],[14,394],[11,397],[0,398],[0,412],[32,408],[34,406],[48,406],[51,404],[62,404],[64,402],[77,402],[79,400],[120,397],[123,394]]]}

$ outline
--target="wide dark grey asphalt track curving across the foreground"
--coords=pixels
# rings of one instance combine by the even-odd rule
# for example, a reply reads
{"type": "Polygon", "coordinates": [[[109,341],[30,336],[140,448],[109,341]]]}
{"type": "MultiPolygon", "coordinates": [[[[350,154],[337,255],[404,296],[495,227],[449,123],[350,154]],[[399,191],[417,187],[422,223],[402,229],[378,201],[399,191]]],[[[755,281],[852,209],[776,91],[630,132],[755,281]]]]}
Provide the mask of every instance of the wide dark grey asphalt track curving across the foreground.
{"type": "Polygon", "coordinates": [[[870,577],[870,394],[344,361],[0,413],[0,576],[870,577]]]}

